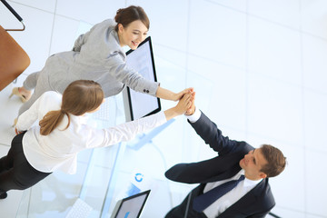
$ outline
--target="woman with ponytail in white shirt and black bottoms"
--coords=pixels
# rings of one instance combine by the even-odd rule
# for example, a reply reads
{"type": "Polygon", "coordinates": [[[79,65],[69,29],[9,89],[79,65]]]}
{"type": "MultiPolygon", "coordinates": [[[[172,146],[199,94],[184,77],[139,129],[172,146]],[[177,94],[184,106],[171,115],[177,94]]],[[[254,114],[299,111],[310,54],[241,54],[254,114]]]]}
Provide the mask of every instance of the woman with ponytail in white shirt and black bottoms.
{"type": "Polygon", "coordinates": [[[99,109],[104,101],[100,84],[78,80],[69,84],[63,96],[45,92],[24,114],[18,117],[17,135],[6,156],[0,159],[0,199],[7,191],[24,190],[60,170],[76,172],[77,154],[84,149],[105,147],[129,141],[191,106],[193,93],[184,94],[179,103],[164,112],[107,129],[86,124],[86,113],[99,109]],[[39,120],[39,125],[34,125],[39,120]],[[21,133],[26,131],[24,133],[21,133]]]}

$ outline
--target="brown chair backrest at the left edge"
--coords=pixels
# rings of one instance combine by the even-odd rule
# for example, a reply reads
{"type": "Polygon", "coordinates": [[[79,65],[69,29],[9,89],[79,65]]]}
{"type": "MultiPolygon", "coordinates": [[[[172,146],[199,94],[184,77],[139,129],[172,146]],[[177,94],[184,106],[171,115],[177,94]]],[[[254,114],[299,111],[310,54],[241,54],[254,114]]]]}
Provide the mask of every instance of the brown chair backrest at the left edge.
{"type": "Polygon", "coordinates": [[[0,25],[0,91],[22,74],[30,63],[24,49],[0,25]]]}

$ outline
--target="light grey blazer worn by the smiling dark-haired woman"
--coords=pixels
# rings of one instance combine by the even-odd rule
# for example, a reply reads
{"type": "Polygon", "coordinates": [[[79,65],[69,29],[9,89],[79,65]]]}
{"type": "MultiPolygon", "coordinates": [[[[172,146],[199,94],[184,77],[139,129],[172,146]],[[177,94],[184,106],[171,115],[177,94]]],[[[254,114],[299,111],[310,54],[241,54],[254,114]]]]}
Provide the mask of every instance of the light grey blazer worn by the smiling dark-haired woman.
{"type": "Polygon", "coordinates": [[[73,51],[50,56],[42,70],[52,90],[60,93],[74,80],[94,80],[102,85],[105,97],[119,94],[124,84],[137,92],[155,96],[158,83],[144,79],[125,64],[113,20],[94,25],[80,35],[73,51]]]}

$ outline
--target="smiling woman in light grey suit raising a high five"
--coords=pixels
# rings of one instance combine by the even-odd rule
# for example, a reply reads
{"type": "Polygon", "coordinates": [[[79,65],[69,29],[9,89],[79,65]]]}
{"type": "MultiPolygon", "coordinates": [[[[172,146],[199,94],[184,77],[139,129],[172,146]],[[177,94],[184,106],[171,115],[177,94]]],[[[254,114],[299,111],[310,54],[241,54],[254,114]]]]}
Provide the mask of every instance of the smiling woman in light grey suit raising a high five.
{"type": "Polygon", "coordinates": [[[104,97],[119,94],[124,85],[137,92],[173,101],[189,91],[185,89],[175,94],[126,66],[122,47],[127,45],[136,49],[149,30],[150,21],[142,7],[131,5],[119,9],[114,20],[94,25],[76,39],[73,51],[53,54],[41,71],[28,75],[22,87],[15,87],[13,94],[25,102],[18,115],[23,114],[46,91],[63,94],[68,84],[80,79],[101,84],[104,97]]]}

